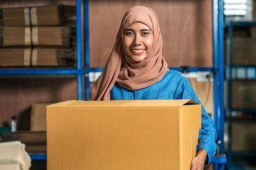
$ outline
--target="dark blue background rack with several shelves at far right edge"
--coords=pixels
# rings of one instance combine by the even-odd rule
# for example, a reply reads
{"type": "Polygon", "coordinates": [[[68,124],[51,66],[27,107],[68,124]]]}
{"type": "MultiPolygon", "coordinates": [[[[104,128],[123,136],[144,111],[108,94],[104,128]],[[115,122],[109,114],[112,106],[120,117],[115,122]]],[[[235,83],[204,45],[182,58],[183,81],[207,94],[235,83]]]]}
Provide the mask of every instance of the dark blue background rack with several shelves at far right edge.
{"type": "Polygon", "coordinates": [[[256,79],[256,66],[233,66],[233,29],[236,26],[256,26],[256,22],[229,22],[228,23],[228,166],[232,164],[233,157],[256,157],[256,153],[245,153],[245,152],[232,152],[232,111],[244,111],[246,113],[256,113],[254,109],[233,109],[232,108],[232,78],[233,71],[239,68],[254,68],[255,69],[255,78],[256,79]]]}

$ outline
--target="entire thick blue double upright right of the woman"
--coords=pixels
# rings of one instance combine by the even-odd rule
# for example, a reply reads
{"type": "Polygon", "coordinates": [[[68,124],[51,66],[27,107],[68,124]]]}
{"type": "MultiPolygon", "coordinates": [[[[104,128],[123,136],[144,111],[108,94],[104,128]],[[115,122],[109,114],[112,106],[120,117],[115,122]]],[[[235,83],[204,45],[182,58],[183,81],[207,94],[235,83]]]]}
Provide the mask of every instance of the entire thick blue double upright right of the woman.
{"type": "MultiPolygon", "coordinates": [[[[214,125],[217,141],[220,141],[219,153],[224,153],[224,57],[223,57],[223,0],[212,0],[213,24],[213,91],[214,91],[214,125]]],[[[218,156],[218,155],[217,155],[218,156]]],[[[225,157],[225,156],[224,156],[225,157]]],[[[223,157],[223,159],[224,159],[223,157]]],[[[216,157],[220,158],[220,157],[216,157]]],[[[223,162],[214,162],[214,169],[225,169],[223,162]]]]}

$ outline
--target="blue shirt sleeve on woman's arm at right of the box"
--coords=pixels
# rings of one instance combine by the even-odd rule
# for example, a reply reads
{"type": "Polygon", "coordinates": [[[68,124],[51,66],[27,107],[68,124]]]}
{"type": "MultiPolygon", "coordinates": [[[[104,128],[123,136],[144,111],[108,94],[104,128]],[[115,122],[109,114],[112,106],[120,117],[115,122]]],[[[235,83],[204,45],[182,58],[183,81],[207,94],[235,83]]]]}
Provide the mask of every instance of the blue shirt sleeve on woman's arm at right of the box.
{"type": "MultiPolygon", "coordinates": [[[[196,103],[200,103],[194,90],[192,89],[188,79],[182,77],[175,92],[175,99],[192,99],[196,103]]],[[[201,104],[201,103],[200,103],[201,104]]],[[[212,157],[216,153],[216,130],[212,118],[206,113],[204,106],[202,106],[202,129],[199,130],[198,145],[196,146],[196,153],[198,150],[204,149],[207,152],[205,166],[208,166],[212,157]]]]}

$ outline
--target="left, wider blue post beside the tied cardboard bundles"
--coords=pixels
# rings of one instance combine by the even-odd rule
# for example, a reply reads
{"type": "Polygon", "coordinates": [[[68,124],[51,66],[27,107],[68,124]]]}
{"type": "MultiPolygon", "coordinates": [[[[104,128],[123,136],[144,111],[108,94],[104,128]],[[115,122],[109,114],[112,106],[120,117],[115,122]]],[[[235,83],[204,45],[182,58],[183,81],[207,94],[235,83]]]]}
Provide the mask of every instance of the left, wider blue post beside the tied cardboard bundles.
{"type": "Polygon", "coordinates": [[[81,0],[76,0],[76,36],[77,36],[77,99],[83,100],[83,63],[82,63],[82,13],[81,0]]]}

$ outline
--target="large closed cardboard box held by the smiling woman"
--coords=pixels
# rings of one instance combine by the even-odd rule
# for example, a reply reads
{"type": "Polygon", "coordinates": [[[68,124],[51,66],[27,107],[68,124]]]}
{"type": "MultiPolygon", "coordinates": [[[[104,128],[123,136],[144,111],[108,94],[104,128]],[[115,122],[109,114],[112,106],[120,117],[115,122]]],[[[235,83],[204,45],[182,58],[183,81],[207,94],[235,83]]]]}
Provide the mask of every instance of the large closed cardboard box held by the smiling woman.
{"type": "Polygon", "coordinates": [[[190,100],[47,106],[47,169],[189,169],[201,106],[190,100]]]}

